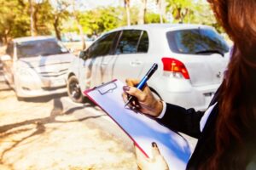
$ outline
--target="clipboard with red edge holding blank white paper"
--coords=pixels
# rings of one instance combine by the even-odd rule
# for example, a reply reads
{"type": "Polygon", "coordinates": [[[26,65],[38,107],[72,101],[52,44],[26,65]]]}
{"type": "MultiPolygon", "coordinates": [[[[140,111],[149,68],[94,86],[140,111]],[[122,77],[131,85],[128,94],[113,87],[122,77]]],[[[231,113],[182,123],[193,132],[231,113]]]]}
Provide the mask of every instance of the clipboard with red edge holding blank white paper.
{"type": "Polygon", "coordinates": [[[123,86],[123,82],[115,79],[86,90],[84,94],[123,129],[145,156],[151,157],[151,143],[155,142],[170,169],[185,169],[191,155],[188,142],[154,119],[125,108],[123,86]]]}

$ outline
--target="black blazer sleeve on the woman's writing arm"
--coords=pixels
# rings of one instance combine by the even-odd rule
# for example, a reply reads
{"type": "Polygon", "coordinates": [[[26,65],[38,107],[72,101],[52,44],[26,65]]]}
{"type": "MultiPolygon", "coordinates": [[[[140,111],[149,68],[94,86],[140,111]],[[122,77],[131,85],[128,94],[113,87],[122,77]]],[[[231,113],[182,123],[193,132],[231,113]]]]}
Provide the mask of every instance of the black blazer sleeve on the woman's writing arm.
{"type": "Polygon", "coordinates": [[[166,113],[157,122],[173,131],[185,133],[198,139],[201,135],[200,121],[203,115],[204,111],[187,110],[178,105],[166,103],[166,113]]]}

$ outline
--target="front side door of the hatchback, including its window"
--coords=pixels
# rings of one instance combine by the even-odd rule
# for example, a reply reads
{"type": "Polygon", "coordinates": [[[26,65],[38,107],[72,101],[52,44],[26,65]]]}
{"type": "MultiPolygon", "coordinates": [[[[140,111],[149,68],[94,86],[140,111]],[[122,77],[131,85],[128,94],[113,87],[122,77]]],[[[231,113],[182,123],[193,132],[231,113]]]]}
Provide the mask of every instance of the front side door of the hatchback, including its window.
{"type": "Polygon", "coordinates": [[[81,89],[91,88],[104,82],[103,77],[108,75],[108,63],[114,57],[109,53],[113,48],[113,41],[116,35],[117,32],[103,35],[86,50],[86,56],[79,65],[81,89]]]}

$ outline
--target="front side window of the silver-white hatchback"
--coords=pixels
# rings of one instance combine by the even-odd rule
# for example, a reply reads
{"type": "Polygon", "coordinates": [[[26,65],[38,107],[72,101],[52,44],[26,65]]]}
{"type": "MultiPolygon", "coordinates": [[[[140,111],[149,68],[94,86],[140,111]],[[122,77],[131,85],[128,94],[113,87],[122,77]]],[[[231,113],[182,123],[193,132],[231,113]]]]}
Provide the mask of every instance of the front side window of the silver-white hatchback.
{"type": "Polygon", "coordinates": [[[113,41],[116,37],[116,32],[106,34],[96,42],[94,42],[88,49],[89,57],[97,57],[108,55],[112,46],[113,41]]]}

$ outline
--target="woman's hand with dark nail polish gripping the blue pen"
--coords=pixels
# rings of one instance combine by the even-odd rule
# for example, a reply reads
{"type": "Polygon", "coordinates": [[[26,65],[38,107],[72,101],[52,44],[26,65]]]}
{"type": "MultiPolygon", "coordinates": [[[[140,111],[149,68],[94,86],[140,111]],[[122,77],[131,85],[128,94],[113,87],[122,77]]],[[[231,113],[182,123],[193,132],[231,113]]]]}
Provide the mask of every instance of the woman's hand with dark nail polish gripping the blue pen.
{"type": "Polygon", "coordinates": [[[141,111],[142,113],[148,114],[150,116],[160,116],[160,113],[163,109],[162,102],[154,98],[154,95],[147,85],[143,88],[143,91],[135,88],[139,82],[140,81],[136,79],[126,79],[127,86],[123,87],[125,91],[123,94],[123,99],[126,102],[127,94],[131,94],[137,98],[137,103],[133,105],[137,105],[136,109],[138,111],[141,111]]]}

